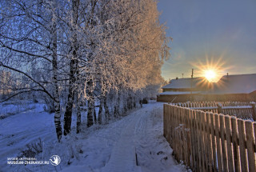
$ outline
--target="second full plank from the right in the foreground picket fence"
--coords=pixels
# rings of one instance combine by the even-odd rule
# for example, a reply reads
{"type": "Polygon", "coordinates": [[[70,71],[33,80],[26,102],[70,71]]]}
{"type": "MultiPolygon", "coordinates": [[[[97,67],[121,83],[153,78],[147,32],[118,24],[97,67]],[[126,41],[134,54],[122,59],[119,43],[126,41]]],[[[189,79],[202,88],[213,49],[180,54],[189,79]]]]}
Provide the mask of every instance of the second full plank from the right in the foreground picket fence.
{"type": "Polygon", "coordinates": [[[238,119],[238,138],[241,159],[241,171],[247,171],[245,126],[242,119],[238,119]]]}

